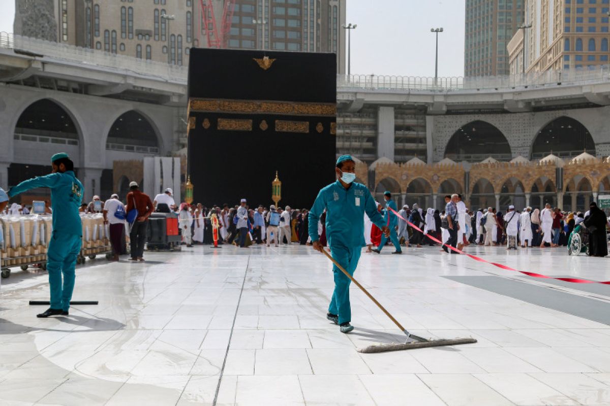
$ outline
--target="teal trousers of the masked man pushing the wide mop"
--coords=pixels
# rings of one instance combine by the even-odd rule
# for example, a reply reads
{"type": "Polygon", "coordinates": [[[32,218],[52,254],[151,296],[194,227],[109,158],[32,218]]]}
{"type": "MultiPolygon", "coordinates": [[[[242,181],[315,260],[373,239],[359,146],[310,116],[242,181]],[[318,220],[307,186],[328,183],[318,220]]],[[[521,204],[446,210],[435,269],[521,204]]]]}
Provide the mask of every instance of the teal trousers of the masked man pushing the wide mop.
{"type": "MultiPolygon", "coordinates": [[[[331,246],[332,257],[352,276],[358,265],[361,251],[361,247],[345,248],[337,245],[331,246]]],[[[351,321],[351,281],[336,265],[333,265],[332,271],[335,279],[335,290],[332,292],[332,299],[330,306],[328,306],[328,312],[339,315],[339,324],[348,323],[351,321]]]]}

